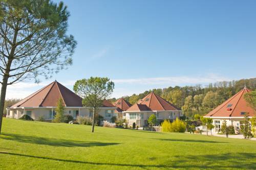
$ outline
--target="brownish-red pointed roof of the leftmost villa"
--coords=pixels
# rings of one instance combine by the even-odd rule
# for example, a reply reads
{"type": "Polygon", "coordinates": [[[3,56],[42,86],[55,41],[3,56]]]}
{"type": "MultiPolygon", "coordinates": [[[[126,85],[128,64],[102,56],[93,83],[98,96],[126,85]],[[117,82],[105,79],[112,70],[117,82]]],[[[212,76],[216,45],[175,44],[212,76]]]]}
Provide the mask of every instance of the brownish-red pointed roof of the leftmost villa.
{"type": "Polygon", "coordinates": [[[41,88],[13,107],[56,107],[61,98],[66,107],[82,107],[82,99],[57,81],[41,88]]]}

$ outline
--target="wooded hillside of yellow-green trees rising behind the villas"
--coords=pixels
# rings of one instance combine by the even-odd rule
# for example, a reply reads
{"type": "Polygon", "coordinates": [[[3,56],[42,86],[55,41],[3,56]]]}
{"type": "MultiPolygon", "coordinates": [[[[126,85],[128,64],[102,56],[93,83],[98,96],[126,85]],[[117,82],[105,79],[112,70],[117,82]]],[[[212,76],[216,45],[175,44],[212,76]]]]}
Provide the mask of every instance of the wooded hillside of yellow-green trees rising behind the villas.
{"type": "MultiPolygon", "coordinates": [[[[256,78],[231,82],[223,81],[214,84],[210,83],[206,87],[196,85],[153,89],[144,91],[138,95],[133,94],[131,96],[125,96],[124,99],[129,101],[131,104],[135,104],[153,91],[163,99],[181,108],[187,117],[192,118],[195,114],[204,115],[210,110],[216,108],[218,105],[244,88],[245,85],[251,90],[256,89],[256,78]]],[[[116,99],[111,99],[111,101],[115,100],[116,99]]]]}

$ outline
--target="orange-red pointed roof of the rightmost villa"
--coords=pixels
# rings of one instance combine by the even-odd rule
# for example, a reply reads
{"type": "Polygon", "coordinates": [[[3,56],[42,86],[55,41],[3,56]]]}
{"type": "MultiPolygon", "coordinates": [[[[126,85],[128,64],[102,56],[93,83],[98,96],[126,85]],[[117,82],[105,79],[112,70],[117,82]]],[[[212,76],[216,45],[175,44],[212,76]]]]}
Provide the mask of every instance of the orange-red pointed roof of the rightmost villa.
{"type": "Polygon", "coordinates": [[[248,106],[244,94],[250,92],[246,87],[233,95],[230,99],[206,114],[206,117],[244,117],[244,113],[255,116],[254,110],[248,106]],[[242,113],[242,114],[241,114],[242,113]]]}

